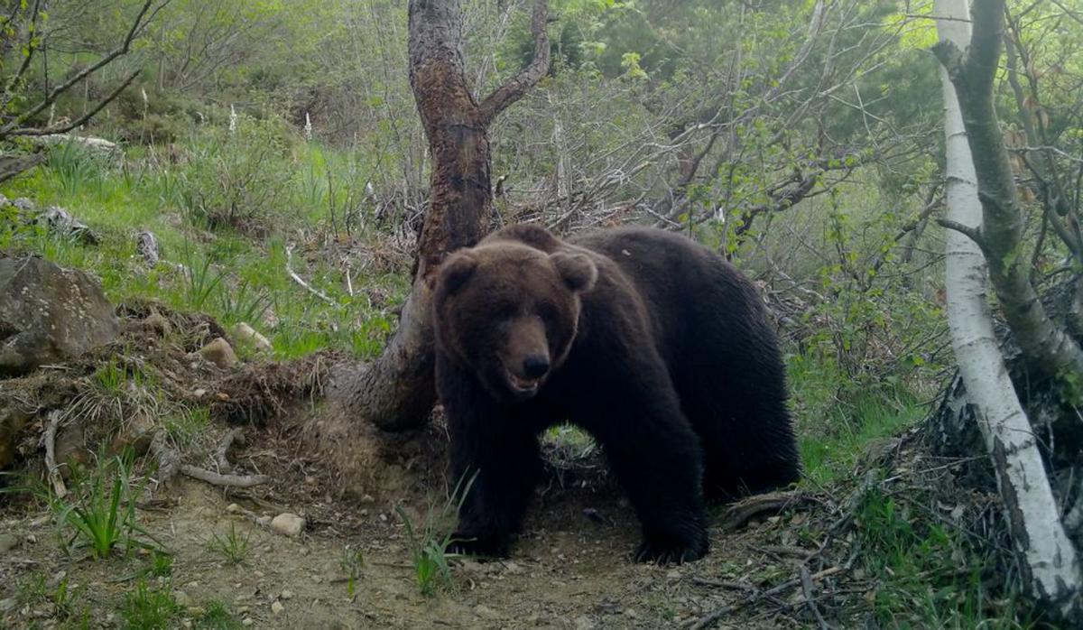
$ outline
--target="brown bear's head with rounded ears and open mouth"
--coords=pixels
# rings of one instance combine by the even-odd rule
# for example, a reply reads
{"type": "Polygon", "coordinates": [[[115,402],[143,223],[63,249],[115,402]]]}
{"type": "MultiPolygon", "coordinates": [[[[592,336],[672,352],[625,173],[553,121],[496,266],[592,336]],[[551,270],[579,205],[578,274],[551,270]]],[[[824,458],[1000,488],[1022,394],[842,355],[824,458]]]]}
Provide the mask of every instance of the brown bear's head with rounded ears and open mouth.
{"type": "Polygon", "coordinates": [[[533,397],[572,347],[598,268],[572,248],[513,240],[451,254],[430,278],[436,343],[503,402],[533,397]]]}

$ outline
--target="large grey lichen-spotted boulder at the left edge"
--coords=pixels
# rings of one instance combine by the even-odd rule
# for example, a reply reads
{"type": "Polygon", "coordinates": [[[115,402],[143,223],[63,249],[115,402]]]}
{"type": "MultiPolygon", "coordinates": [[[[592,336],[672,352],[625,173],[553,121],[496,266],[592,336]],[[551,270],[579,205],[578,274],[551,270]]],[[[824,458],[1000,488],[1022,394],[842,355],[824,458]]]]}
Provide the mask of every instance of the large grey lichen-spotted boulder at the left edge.
{"type": "Polygon", "coordinates": [[[0,258],[0,378],[77,357],[119,331],[91,276],[39,258],[0,258]]]}

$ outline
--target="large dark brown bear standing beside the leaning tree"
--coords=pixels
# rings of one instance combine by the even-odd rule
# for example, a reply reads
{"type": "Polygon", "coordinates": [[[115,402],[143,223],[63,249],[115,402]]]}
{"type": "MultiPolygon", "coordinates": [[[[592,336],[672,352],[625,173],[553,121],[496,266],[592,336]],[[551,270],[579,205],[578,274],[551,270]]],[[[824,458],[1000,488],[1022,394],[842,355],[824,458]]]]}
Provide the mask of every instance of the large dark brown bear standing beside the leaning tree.
{"type": "Polygon", "coordinates": [[[704,498],[798,478],[782,359],[752,284],[673,233],[560,240],[514,225],[430,278],[436,390],[457,480],[455,549],[506,555],[563,421],[601,445],[642,524],[637,561],[707,551],[704,498]]]}

